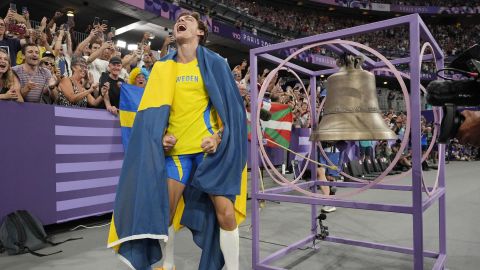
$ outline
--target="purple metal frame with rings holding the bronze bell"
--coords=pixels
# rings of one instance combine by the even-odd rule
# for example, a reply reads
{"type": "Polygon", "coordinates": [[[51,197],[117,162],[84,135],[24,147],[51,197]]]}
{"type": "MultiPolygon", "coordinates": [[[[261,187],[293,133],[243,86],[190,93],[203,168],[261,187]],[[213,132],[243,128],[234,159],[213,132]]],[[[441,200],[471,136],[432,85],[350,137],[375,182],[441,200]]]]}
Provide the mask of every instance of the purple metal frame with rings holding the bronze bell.
{"type": "MultiPolygon", "coordinates": [[[[300,72],[306,76],[310,77],[310,85],[312,86],[311,89],[315,89],[316,79],[318,76],[321,75],[329,75],[337,70],[335,68],[334,61],[330,61],[333,59],[329,59],[325,61],[322,65],[321,70],[312,71],[308,68],[299,66],[295,63],[290,63],[293,58],[298,56],[299,54],[310,50],[317,46],[324,46],[327,48],[332,48],[332,51],[337,55],[342,53],[350,53],[353,55],[359,55],[360,52],[356,48],[360,48],[364,51],[367,51],[374,55],[379,61],[371,59],[369,57],[365,57],[365,64],[368,66],[369,69],[380,69],[383,67],[387,67],[391,70],[395,76],[395,78],[399,81],[400,87],[402,88],[402,92],[404,93],[407,101],[408,97],[408,104],[407,109],[408,119],[411,121],[411,132],[410,128],[408,128],[411,134],[411,149],[412,149],[412,173],[411,173],[411,183],[409,185],[405,185],[405,183],[401,184],[378,184],[378,182],[373,181],[372,183],[354,183],[354,182],[324,182],[324,181],[317,181],[316,174],[316,166],[311,167],[312,172],[312,179],[307,182],[294,182],[286,179],[283,177],[276,169],[269,168],[273,167],[268,165],[270,162],[268,156],[262,152],[262,161],[263,165],[266,166],[267,172],[272,172],[275,175],[275,178],[280,179],[285,183],[285,185],[281,185],[279,187],[274,187],[267,189],[265,191],[259,190],[259,170],[257,168],[260,166],[260,155],[258,154],[261,150],[261,144],[258,141],[257,126],[259,123],[259,115],[257,115],[257,108],[259,108],[258,103],[261,102],[263,96],[259,97],[259,93],[257,91],[253,91],[251,93],[251,109],[252,115],[256,115],[252,117],[252,138],[257,138],[254,142],[250,144],[250,158],[251,158],[251,167],[255,168],[252,169],[251,172],[251,197],[252,197],[252,204],[251,204],[251,224],[252,224],[252,269],[254,270],[268,270],[268,269],[284,269],[279,267],[277,263],[273,266],[273,263],[293,252],[298,252],[298,248],[303,248],[305,246],[310,246],[310,244],[318,239],[318,232],[319,226],[316,222],[318,217],[318,209],[316,208],[317,205],[331,205],[335,207],[345,207],[351,209],[358,209],[358,210],[369,210],[369,211],[377,211],[377,212],[385,212],[385,213],[395,213],[395,214],[405,214],[411,217],[412,222],[409,222],[412,226],[412,244],[413,245],[406,245],[406,246],[397,246],[392,243],[382,243],[378,242],[376,239],[375,242],[368,241],[367,239],[359,240],[359,239],[349,239],[347,237],[336,236],[335,231],[330,230],[330,235],[326,236],[322,242],[331,242],[331,243],[339,243],[339,244],[346,244],[350,246],[356,247],[364,247],[388,252],[397,252],[407,255],[412,255],[412,267],[411,269],[414,270],[424,270],[427,264],[424,264],[425,260],[429,260],[432,264],[433,270],[442,270],[446,267],[446,260],[447,260],[447,250],[446,250],[446,187],[445,187],[445,159],[444,159],[444,152],[445,152],[445,145],[439,145],[439,166],[438,166],[438,187],[429,187],[427,185],[422,184],[422,167],[421,167],[421,159],[422,159],[422,149],[420,145],[420,138],[421,138],[421,130],[420,130],[420,117],[421,117],[421,104],[420,104],[420,66],[424,60],[428,59],[436,59],[436,67],[437,69],[443,68],[444,63],[444,54],[438,45],[438,43],[433,39],[433,35],[430,33],[426,24],[422,21],[418,14],[411,14],[403,17],[393,18],[386,21],[381,22],[374,22],[369,23],[366,25],[355,26],[348,29],[341,29],[333,32],[323,33],[311,37],[305,37],[297,40],[289,40],[278,44],[272,44],[269,46],[258,47],[255,49],[250,50],[250,72],[251,72],[251,84],[256,85],[257,83],[257,75],[258,75],[258,59],[264,59],[269,62],[273,62],[279,64],[279,67],[286,66],[291,68],[297,72],[300,72]],[[402,58],[397,58],[393,60],[386,59],[383,55],[379,52],[365,46],[363,44],[343,40],[344,38],[351,38],[352,36],[359,36],[364,35],[365,33],[375,33],[376,31],[381,31],[384,29],[395,29],[398,26],[407,26],[409,28],[409,44],[410,49],[407,52],[407,55],[402,58]],[[429,55],[424,55],[424,50],[422,48],[422,52],[420,52],[420,48],[422,47],[420,42],[420,37],[430,43],[432,45],[432,52],[429,55]],[[278,58],[272,54],[276,54],[279,50],[290,49],[290,48],[298,48],[294,53],[289,55],[286,59],[278,58]],[[409,91],[407,91],[407,87],[404,84],[403,80],[401,79],[401,75],[398,70],[395,69],[394,64],[407,64],[410,67],[410,87],[409,91]],[[407,93],[409,95],[407,95],[407,93]],[[268,165],[268,166],[267,166],[268,165]],[[276,174],[278,173],[278,175],[276,174]],[[284,181],[285,180],[285,181],[284,181]],[[287,183],[288,182],[288,183],[287,183]],[[340,190],[340,194],[335,195],[335,198],[328,197],[322,198],[321,194],[316,194],[316,186],[317,185],[335,185],[342,188],[349,188],[355,189],[355,191],[346,191],[342,193],[340,190]],[[367,188],[366,188],[367,187],[367,188]],[[345,197],[340,198],[342,194],[353,193],[360,190],[366,190],[368,188],[371,189],[378,189],[380,190],[390,190],[395,192],[407,192],[405,195],[410,195],[412,197],[411,202],[405,202],[402,204],[392,204],[390,200],[385,200],[381,202],[372,202],[371,200],[364,200],[365,198],[351,198],[345,199],[345,197]],[[299,195],[297,192],[292,191],[311,191],[308,196],[299,195]],[[431,190],[431,193],[427,196],[423,196],[425,190],[431,190]],[[315,196],[314,196],[315,195],[315,196]],[[304,238],[289,244],[286,247],[277,250],[272,254],[268,254],[264,257],[260,256],[260,202],[262,201],[275,201],[275,202],[289,202],[289,203],[300,203],[305,205],[311,206],[311,232],[308,233],[304,238]],[[430,207],[437,205],[435,202],[438,201],[438,248],[434,248],[434,250],[427,250],[424,248],[424,213],[429,210],[430,207]],[[433,260],[431,260],[433,259],[433,260]]],[[[266,80],[272,80],[275,72],[269,74],[266,80]],[[271,78],[269,78],[271,76],[271,78]]],[[[373,88],[373,87],[372,87],[373,88]]],[[[265,91],[263,91],[265,92],[265,91]]],[[[329,93],[330,94],[330,93],[329,93]]],[[[263,95],[263,93],[262,93],[263,95]]],[[[330,95],[331,97],[331,95],[330,95]]],[[[310,104],[315,106],[316,102],[316,91],[310,92],[310,104]]],[[[315,119],[316,110],[312,111],[312,119],[315,119]]],[[[407,120],[408,120],[407,119],[407,120]]],[[[316,128],[318,126],[317,123],[312,122],[312,126],[316,128]]],[[[370,128],[370,127],[369,127],[370,128]]],[[[337,139],[337,138],[334,138],[337,139]]],[[[402,145],[407,144],[407,138],[402,141],[402,145]]],[[[312,145],[317,145],[317,142],[312,142],[312,145]]],[[[405,146],[404,146],[405,147],[405,146]]],[[[317,147],[312,147],[311,155],[317,155],[317,147]]],[[[393,167],[393,164],[390,164],[393,167]]],[[[389,167],[390,167],[389,166],[389,167]]],[[[391,168],[387,168],[385,172],[391,170],[391,168]]],[[[388,172],[387,172],[388,173],[388,172]]],[[[383,177],[381,177],[383,178],[383,177]]],[[[381,179],[380,178],[380,179],[381,179]]],[[[377,181],[377,180],[376,180],[377,181]]],[[[426,193],[426,192],[425,192],[426,193]]],[[[358,193],[356,193],[358,194],[358,193]]],[[[348,196],[351,197],[351,196],[348,196]]],[[[429,224],[435,225],[435,224],[429,224]]],[[[318,244],[318,242],[316,243],[318,244]]],[[[321,244],[321,243],[320,243],[321,244]]],[[[305,258],[305,257],[303,257],[305,258]]],[[[403,257],[400,257],[403,260],[403,257]]]]}

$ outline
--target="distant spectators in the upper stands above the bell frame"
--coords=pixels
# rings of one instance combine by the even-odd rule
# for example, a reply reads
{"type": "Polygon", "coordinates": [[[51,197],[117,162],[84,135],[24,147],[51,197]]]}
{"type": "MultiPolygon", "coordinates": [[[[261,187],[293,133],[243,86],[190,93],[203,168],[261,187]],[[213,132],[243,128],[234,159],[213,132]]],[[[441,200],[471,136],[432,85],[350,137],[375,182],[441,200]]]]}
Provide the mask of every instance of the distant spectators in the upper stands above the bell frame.
{"type": "MultiPolygon", "coordinates": [[[[339,16],[335,13],[319,15],[316,10],[304,7],[272,6],[270,2],[262,0],[254,2],[245,0],[223,0],[223,2],[274,27],[281,33],[280,36],[285,37],[285,39],[326,33],[371,22],[371,19],[346,18],[345,16],[339,16]]],[[[408,1],[387,2],[405,3],[408,1]]],[[[450,1],[410,2],[450,3],[450,1]]],[[[457,55],[459,52],[475,44],[480,37],[480,26],[476,24],[428,24],[428,27],[447,56],[457,55]]],[[[350,39],[375,48],[388,57],[404,57],[409,51],[409,41],[405,37],[408,37],[408,28],[397,27],[351,37],[350,39]]],[[[327,51],[321,48],[318,48],[316,52],[328,54],[327,51]]]]}

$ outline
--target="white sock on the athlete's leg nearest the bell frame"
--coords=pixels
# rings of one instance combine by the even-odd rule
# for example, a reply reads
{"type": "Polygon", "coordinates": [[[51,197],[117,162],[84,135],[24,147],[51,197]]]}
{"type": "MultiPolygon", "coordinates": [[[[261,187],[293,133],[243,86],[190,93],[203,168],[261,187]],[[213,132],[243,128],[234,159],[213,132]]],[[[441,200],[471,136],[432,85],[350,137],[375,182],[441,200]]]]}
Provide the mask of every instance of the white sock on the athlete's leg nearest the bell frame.
{"type": "Polygon", "coordinates": [[[240,237],[238,227],[233,231],[225,231],[220,228],[220,249],[225,258],[227,270],[239,270],[240,237]]]}

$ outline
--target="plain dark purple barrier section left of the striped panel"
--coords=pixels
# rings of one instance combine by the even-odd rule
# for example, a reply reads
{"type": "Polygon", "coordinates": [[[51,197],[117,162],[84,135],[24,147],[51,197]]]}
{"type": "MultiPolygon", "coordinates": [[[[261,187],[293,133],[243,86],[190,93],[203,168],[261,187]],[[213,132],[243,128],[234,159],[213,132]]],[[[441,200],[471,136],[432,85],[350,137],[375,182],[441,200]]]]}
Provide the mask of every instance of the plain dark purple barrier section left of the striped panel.
{"type": "Polygon", "coordinates": [[[0,103],[0,219],[26,209],[56,222],[55,144],[51,106],[0,103]]]}

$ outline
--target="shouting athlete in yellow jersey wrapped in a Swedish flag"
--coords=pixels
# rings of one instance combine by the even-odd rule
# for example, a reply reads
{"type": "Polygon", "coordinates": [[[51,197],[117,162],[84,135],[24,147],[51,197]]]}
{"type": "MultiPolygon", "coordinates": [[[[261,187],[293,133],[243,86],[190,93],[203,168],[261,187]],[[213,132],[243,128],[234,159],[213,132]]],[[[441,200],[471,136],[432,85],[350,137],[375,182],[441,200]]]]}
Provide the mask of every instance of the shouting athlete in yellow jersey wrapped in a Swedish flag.
{"type": "Polygon", "coordinates": [[[178,17],[177,50],[153,67],[134,116],[108,238],[133,269],[162,258],[160,269],[174,269],[180,224],[202,249],[199,269],[239,269],[247,122],[227,62],[203,47],[207,34],[198,13],[178,17]]]}

